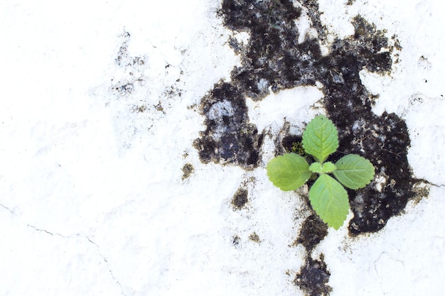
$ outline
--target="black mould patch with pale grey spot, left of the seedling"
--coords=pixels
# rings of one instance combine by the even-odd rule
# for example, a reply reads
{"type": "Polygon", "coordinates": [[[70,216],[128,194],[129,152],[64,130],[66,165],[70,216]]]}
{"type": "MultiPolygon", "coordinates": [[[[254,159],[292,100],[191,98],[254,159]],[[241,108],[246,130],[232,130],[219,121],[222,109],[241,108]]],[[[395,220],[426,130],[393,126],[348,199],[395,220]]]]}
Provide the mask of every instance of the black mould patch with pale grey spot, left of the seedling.
{"type": "Polygon", "coordinates": [[[249,123],[242,91],[233,84],[220,82],[203,98],[201,110],[207,128],[193,143],[200,160],[255,168],[263,135],[249,123]]]}

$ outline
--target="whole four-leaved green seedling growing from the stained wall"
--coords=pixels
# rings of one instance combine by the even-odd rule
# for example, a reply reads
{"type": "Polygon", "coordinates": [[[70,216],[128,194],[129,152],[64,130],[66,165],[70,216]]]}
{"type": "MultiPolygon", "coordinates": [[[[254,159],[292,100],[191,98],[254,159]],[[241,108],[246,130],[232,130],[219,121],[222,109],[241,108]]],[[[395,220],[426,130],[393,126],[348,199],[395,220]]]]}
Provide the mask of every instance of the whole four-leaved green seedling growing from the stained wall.
{"type": "Polygon", "coordinates": [[[326,224],[339,229],[349,211],[348,193],[343,186],[353,190],[365,187],[374,177],[374,167],[369,160],[356,154],[345,155],[336,163],[325,162],[338,148],[338,131],[323,115],[309,122],[302,143],[304,151],[316,162],[309,165],[296,153],[279,155],[267,164],[269,180],[281,190],[289,191],[303,186],[318,174],[309,190],[311,206],[326,224]],[[333,174],[337,180],[328,174],[333,174]]]}

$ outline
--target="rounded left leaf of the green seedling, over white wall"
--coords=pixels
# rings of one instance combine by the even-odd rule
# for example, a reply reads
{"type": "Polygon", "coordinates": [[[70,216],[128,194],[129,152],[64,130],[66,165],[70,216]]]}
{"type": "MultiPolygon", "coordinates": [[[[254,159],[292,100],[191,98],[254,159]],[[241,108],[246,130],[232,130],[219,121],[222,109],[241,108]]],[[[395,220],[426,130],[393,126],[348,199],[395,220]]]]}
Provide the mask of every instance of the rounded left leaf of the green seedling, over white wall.
{"type": "Polygon", "coordinates": [[[285,153],[267,164],[267,175],[275,186],[284,191],[296,190],[311,177],[308,162],[295,153],[285,153]]]}

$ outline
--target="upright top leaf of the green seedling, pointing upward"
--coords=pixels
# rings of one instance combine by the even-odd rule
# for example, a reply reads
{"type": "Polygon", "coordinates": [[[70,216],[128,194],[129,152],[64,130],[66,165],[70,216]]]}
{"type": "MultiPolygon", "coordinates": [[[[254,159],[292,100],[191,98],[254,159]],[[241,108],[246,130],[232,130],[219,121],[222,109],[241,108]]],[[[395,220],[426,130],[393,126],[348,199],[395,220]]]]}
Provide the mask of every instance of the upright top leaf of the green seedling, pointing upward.
{"type": "Polygon", "coordinates": [[[323,163],[338,148],[337,128],[326,116],[316,116],[306,126],[302,143],[306,153],[323,163]]]}

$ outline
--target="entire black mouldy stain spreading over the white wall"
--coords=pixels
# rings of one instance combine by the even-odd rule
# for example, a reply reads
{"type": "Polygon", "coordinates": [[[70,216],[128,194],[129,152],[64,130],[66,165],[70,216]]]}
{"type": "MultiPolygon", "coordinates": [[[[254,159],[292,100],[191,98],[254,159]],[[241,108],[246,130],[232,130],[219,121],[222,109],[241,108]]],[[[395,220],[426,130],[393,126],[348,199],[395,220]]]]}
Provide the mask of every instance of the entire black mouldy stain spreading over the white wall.
{"type": "MultiPolygon", "coordinates": [[[[201,111],[207,128],[195,140],[203,163],[230,163],[247,170],[256,168],[261,159],[265,131],[258,131],[247,116],[245,100],[261,100],[272,92],[293,87],[323,84],[323,104],[327,116],[338,127],[340,146],[331,155],[336,161],[342,155],[356,153],[368,158],[376,175],[385,178],[380,190],[375,181],[362,190],[348,190],[354,218],[348,226],[351,236],[382,229],[387,220],[400,214],[408,199],[415,196],[415,179],[407,160],[409,133],[397,114],[377,116],[371,108],[378,95],[370,94],[360,81],[360,70],[382,75],[390,73],[392,60],[401,50],[396,36],[390,40],[362,16],[353,18],[355,34],[337,39],[329,55],[321,55],[327,30],[321,25],[318,2],[301,0],[311,18],[318,38],[306,38],[299,44],[299,31],[294,21],[301,9],[289,0],[223,0],[218,15],[234,32],[247,32],[246,45],[231,38],[228,43],[242,59],[242,65],[232,70],[229,82],[219,82],[203,97],[201,111]]],[[[353,4],[348,1],[345,5],[353,4]]],[[[296,98],[297,99],[297,98],[296,98]]],[[[301,135],[289,135],[298,139],[301,135]]],[[[289,138],[277,143],[291,148],[289,138]],[[289,146],[290,145],[290,146],[289,146]]],[[[279,147],[281,146],[281,147],[279,147]]],[[[243,199],[234,197],[234,200],[243,199]]],[[[232,202],[242,204],[242,202],[232,202]]],[[[308,251],[306,265],[295,283],[306,295],[327,295],[329,272],[323,258],[313,260],[311,250],[326,235],[313,215],[304,222],[297,243],[308,251]]]]}

